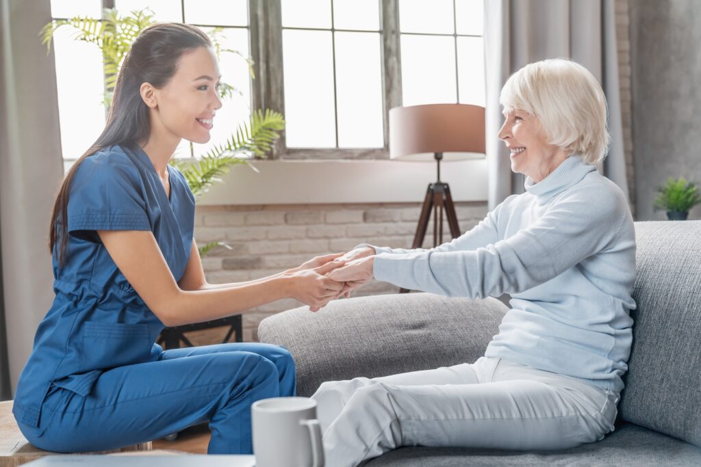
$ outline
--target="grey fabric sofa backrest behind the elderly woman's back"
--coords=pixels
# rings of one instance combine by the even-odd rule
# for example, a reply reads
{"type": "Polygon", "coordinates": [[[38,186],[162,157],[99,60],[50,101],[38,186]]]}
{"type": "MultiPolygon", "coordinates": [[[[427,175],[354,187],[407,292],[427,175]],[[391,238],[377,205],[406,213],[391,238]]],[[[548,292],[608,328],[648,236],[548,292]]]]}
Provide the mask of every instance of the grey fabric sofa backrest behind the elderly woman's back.
{"type": "Polygon", "coordinates": [[[637,222],[635,232],[620,417],[701,447],[701,221],[637,222]]]}

